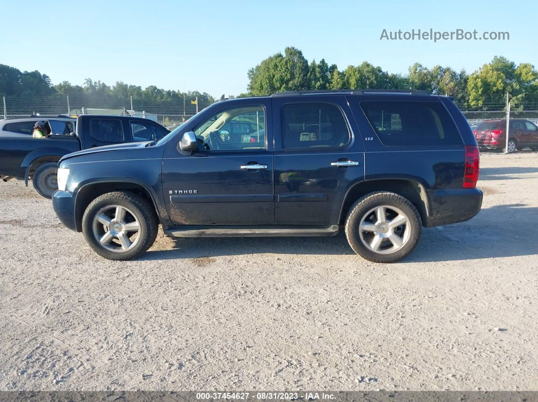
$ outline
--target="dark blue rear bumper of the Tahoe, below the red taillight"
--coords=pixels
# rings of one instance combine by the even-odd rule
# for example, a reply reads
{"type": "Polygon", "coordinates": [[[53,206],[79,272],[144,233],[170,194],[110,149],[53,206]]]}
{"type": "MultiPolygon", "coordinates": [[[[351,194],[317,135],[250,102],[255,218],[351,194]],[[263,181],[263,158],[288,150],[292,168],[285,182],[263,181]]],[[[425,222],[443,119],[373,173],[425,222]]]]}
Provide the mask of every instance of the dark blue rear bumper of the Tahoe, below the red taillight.
{"type": "Polygon", "coordinates": [[[478,188],[429,190],[428,218],[424,226],[430,228],[469,221],[479,213],[482,196],[478,188]]]}

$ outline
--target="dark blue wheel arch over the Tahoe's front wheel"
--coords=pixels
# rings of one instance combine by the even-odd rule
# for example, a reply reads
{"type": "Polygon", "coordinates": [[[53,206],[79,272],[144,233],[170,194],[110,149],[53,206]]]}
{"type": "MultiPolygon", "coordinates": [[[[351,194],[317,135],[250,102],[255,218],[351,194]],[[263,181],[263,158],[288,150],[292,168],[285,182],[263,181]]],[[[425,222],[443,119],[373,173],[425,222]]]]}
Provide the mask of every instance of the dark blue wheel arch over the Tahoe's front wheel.
{"type": "Polygon", "coordinates": [[[86,182],[77,189],[75,196],[75,225],[77,231],[82,231],[82,216],[90,202],[100,195],[113,191],[130,191],[147,199],[153,205],[157,220],[160,222],[157,197],[151,187],[136,179],[106,178],[86,182]]]}

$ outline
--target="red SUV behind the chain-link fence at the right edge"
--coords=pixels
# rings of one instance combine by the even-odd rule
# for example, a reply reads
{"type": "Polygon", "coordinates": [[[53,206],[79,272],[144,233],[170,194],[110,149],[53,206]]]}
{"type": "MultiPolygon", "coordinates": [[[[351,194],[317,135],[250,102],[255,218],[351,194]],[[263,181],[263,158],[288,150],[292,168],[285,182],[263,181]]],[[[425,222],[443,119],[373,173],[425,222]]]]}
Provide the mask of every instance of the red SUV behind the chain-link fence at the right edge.
{"type": "MultiPolygon", "coordinates": [[[[484,120],[473,134],[480,149],[502,150],[506,147],[506,120],[484,120]]],[[[508,152],[526,147],[538,149],[538,127],[525,119],[510,119],[508,152]]]]}

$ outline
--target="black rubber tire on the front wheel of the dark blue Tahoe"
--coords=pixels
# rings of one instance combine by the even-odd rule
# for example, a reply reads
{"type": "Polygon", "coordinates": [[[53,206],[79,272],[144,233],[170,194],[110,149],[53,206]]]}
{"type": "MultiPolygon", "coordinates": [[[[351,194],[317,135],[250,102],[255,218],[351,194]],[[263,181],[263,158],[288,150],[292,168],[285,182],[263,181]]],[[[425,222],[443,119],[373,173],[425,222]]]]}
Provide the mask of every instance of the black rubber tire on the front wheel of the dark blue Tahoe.
{"type": "MultiPolygon", "coordinates": [[[[102,214],[101,214],[102,215],[102,214]]],[[[100,224],[97,224],[99,227],[100,224]]],[[[104,225],[102,225],[105,228],[104,225]]],[[[84,215],[82,217],[82,232],[84,238],[90,245],[90,247],[101,257],[109,260],[132,260],[140,257],[144,254],[148,248],[150,248],[155,242],[157,232],[159,229],[159,222],[155,208],[146,199],[141,196],[124,191],[115,191],[98,196],[95,200],[91,201],[84,215]],[[132,248],[126,251],[110,251],[97,240],[98,233],[94,233],[94,218],[96,215],[106,208],[114,208],[114,206],[121,206],[125,208],[129,215],[132,215],[139,225],[139,229],[134,233],[137,237],[132,242],[132,248]]],[[[103,229],[104,232],[110,231],[103,229]]],[[[119,246],[118,240],[113,239],[109,245],[119,246]],[[116,243],[115,243],[116,242],[116,243]]],[[[114,247],[111,247],[114,248],[114,247]]]]}

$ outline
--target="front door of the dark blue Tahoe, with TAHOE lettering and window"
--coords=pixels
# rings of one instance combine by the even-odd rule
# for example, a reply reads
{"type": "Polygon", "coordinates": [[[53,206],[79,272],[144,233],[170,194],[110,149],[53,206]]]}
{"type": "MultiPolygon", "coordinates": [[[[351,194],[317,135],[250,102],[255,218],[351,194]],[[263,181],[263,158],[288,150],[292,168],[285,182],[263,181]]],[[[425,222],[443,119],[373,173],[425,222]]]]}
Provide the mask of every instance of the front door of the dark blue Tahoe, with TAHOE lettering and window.
{"type": "Polygon", "coordinates": [[[193,122],[199,150],[168,142],[162,188],[174,224],[274,223],[273,136],[267,99],[237,101],[193,122]]]}

